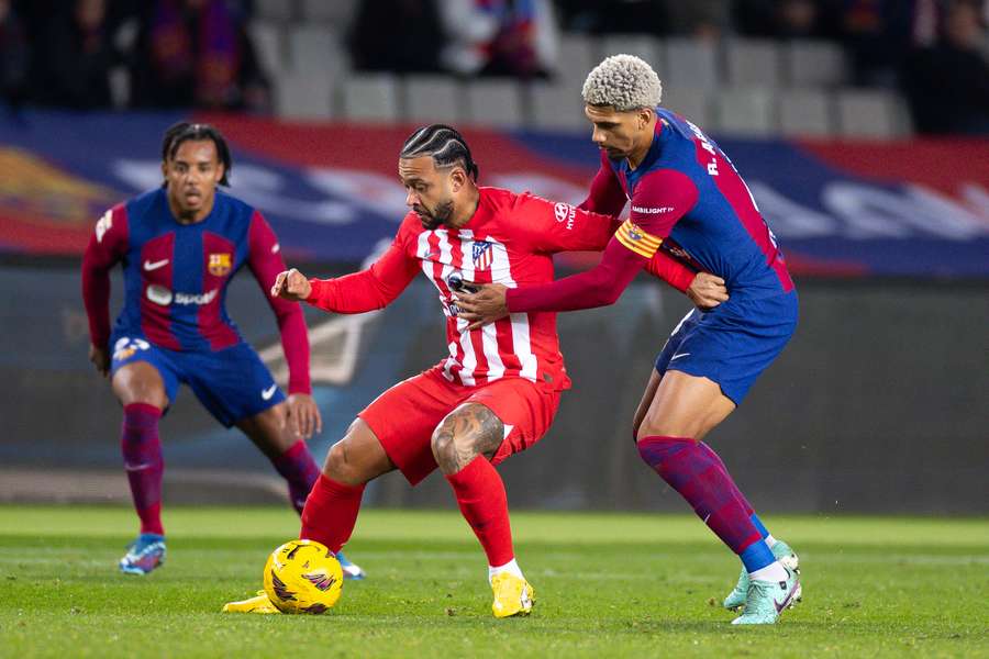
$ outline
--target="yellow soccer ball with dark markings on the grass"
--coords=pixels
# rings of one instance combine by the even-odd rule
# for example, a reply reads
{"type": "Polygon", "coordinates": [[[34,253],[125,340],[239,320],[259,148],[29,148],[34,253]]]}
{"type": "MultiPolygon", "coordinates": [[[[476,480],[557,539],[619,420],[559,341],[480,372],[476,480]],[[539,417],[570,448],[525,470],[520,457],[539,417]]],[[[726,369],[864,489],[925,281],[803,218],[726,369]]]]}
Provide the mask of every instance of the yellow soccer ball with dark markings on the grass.
{"type": "Polygon", "coordinates": [[[265,592],[281,613],[323,613],[340,600],[343,570],[315,540],[289,540],[265,563],[265,592]]]}

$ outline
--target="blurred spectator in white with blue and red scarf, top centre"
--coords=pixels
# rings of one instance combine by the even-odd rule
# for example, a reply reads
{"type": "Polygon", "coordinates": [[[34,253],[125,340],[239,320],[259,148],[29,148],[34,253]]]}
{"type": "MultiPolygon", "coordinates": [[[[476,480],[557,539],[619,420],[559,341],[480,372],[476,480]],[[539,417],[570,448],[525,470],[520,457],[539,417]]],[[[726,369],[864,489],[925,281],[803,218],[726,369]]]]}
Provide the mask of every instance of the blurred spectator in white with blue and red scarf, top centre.
{"type": "Polygon", "coordinates": [[[451,43],[444,66],[457,74],[531,78],[553,72],[556,18],[549,0],[443,0],[451,43]]]}

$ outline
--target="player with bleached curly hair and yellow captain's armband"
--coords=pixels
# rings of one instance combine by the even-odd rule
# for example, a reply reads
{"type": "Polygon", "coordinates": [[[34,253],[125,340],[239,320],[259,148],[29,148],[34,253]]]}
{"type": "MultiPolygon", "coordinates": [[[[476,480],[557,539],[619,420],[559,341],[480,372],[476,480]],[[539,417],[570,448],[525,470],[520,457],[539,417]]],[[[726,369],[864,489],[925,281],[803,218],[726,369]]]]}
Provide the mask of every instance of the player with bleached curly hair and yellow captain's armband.
{"type": "Polygon", "coordinates": [[[797,326],[797,292],[776,238],[731,160],[698,126],[659,108],[662,85],[631,55],[605,58],[584,86],[601,168],[582,208],[616,215],[601,263],[553,283],[490,284],[457,295],[471,326],[507,313],[613,303],[658,250],[724,279],[731,299],[674,330],[635,414],[638,451],[744,569],[727,608],[735,624],[771,624],[800,597],[797,557],[773,538],[701,439],[742,402],[797,326]]]}

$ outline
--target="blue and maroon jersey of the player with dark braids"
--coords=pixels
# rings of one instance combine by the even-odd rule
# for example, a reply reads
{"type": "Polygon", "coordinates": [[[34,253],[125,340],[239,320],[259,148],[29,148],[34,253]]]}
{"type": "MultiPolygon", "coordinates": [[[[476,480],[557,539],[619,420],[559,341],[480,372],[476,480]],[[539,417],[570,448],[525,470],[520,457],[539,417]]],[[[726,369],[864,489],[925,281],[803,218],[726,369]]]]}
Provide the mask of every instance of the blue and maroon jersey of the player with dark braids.
{"type": "Polygon", "coordinates": [[[164,188],[107,211],[82,260],[82,297],[92,344],[110,338],[110,270],[120,263],[124,305],[116,332],[182,351],[214,351],[243,340],[226,314],[226,287],[247,266],[278,320],[289,392],[309,393],[309,338],[302,308],[271,299],[285,270],[278,242],[259,212],[218,190],[202,221],[180,224],[164,188]]]}

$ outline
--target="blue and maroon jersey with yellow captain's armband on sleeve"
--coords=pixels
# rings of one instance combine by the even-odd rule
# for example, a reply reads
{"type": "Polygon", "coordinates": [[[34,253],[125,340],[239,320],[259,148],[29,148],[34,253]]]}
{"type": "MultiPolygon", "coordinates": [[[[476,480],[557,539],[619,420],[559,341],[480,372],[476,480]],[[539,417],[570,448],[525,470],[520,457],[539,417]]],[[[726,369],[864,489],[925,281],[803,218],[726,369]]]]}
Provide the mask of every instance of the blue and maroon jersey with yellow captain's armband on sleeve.
{"type": "Polygon", "coordinates": [[[700,129],[657,108],[656,133],[636,169],[603,153],[582,205],[615,212],[631,202],[601,263],[552,284],[509,291],[512,311],[567,311],[614,302],[657,253],[722,277],[732,298],[793,289],[782,253],[731,160],[700,129]]]}

